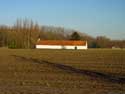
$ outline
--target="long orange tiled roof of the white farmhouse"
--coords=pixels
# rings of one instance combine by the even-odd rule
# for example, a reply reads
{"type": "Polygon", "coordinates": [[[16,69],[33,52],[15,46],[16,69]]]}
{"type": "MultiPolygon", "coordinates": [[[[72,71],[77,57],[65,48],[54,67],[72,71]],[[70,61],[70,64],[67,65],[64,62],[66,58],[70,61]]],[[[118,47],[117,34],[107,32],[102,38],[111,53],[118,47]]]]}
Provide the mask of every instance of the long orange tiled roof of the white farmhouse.
{"type": "Polygon", "coordinates": [[[36,45],[86,45],[86,41],[70,41],[70,40],[40,40],[36,45]]]}

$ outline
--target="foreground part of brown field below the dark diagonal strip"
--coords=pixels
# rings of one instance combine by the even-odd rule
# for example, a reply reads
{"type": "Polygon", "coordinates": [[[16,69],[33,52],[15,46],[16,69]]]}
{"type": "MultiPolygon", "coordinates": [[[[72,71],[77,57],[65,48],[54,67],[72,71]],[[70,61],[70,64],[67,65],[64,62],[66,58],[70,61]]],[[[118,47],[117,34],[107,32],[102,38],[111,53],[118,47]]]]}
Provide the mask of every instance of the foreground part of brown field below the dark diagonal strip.
{"type": "Polygon", "coordinates": [[[80,73],[85,70],[15,55],[9,50],[0,52],[0,94],[125,94],[119,77],[102,79],[92,71],[80,73]]]}

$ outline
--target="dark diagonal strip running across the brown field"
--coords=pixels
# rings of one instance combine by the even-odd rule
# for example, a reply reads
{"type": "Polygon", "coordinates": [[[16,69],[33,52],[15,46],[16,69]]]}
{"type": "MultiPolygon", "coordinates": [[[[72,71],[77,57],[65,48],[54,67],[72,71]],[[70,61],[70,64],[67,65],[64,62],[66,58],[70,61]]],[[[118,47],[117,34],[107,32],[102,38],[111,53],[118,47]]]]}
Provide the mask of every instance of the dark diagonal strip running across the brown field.
{"type": "Polygon", "coordinates": [[[26,58],[26,57],[22,57],[22,56],[16,56],[13,55],[16,58],[20,58],[22,60],[27,60],[27,61],[32,61],[34,63],[45,63],[48,65],[51,65],[52,67],[56,67],[59,69],[62,69],[66,72],[71,72],[71,73],[77,73],[80,75],[86,75],[91,77],[92,79],[95,80],[103,80],[103,81],[108,81],[108,82],[113,82],[113,83],[119,83],[119,84],[125,84],[125,78],[124,77],[118,77],[118,76],[112,76],[110,74],[104,74],[104,73],[100,73],[100,72],[94,72],[91,70],[84,70],[84,69],[77,69],[71,66],[67,66],[67,65],[63,65],[63,64],[57,64],[57,63],[53,63],[53,62],[49,62],[49,61],[45,61],[45,60],[37,60],[37,59],[33,59],[33,58],[26,58]]]}

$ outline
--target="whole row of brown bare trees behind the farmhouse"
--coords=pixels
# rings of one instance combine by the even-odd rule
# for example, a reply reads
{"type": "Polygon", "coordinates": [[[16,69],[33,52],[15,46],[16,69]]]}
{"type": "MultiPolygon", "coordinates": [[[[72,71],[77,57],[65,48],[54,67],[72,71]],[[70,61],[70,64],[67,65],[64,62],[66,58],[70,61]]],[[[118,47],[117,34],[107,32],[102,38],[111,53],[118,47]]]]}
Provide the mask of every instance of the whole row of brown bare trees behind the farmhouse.
{"type": "Polygon", "coordinates": [[[105,36],[94,38],[77,30],[40,26],[28,19],[18,19],[13,26],[0,26],[0,47],[35,48],[39,38],[41,40],[86,40],[89,48],[125,48],[125,40],[111,40],[105,36]]]}

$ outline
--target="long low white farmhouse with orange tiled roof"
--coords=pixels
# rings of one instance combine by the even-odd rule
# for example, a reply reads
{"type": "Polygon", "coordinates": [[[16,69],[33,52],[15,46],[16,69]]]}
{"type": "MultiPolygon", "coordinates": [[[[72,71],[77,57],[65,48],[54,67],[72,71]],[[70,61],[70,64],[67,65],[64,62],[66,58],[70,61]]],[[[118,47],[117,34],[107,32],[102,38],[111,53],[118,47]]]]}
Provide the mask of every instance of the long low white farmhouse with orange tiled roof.
{"type": "Polygon", "coordinates": [[[36,49],[87,49],[87,41],[38,40],[36,49]]]}

